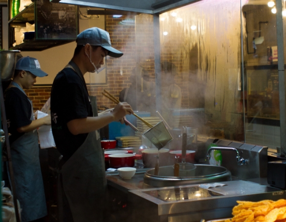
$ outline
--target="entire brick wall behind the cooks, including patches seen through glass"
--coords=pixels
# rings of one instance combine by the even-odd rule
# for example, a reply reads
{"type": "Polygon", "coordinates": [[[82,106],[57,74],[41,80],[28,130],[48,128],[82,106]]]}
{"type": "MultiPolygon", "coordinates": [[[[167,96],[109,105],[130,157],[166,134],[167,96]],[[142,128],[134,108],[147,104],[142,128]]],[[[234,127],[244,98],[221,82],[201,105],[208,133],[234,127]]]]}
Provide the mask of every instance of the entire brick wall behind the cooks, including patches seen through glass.
{"type": "MultiPolygon", "coordinates": [[[[134,19],[134,16],[122,16],[120,18],[106,16],[106,31],[110,33],[111,44],[114,48],[122,51],[124,56],[121,58],[108,56],[107,84],[93,86],[90,89],[90,95],[97,97],[99,110],[104,110],[103,106],[110,108],[115,106],[113,102],[110,102],[109,99],[101,94],[103,89],[108,90],[118,98],[120,91],[130,86],[129,78],[136,64],[148,70],[151,81],[155,81],[153,16],[141,14],[136,16],[136,24],[121,24],[120,22],[125,19],[134,19]]],[[[174,62],[180,73],[180,56],[177,55],[178,48],[176,46],[175,41],[164,44],[161,56],[162,60],[174,62]]],[[[176,84],[182,89],[182,107],[188,107],[186,78],[186,76],[179,74],[175,79],[176,84]]],[[[50,97],[50,90],[51,86],[34,87],[26,90],[28,97],[33,100],[35,111],[43,107],[46,100],[50,97]]]]}

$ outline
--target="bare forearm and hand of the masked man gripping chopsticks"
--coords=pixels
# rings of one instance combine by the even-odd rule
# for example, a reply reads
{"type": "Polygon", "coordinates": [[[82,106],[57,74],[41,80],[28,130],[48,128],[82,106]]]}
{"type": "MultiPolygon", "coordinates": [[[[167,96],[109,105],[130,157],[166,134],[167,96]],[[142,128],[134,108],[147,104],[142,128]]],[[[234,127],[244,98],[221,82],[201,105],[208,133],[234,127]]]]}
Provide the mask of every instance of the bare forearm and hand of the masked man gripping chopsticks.
{"type": "Polygon", "coordinates": [[[126,103],[119,103],[112,112],[96,117],[87,117],[82,119],[73,119],[67,123],[70,133],[77,135],[81,133],[90,133],[99,130],[113,121],[122,119],[125,115],[133,113],[131,106],[126,103]]]}

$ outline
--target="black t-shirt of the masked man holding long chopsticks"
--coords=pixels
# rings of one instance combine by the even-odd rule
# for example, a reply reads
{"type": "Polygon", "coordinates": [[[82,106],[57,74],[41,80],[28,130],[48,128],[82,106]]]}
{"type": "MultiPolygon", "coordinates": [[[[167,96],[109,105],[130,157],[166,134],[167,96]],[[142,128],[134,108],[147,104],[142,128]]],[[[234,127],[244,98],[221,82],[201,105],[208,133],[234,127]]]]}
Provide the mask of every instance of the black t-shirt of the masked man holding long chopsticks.
{"type": "MultiPolygon", "coordinates": [[[[76,67],[76,70],[79,70],[76,67]]],[[[92,116],[86,83],[73,69],[65,68],[54,79],[51,90],[51,125],[58,151],[67,160],[83,144],[88,133],[73,135],[67,122],[92,116]]]]}

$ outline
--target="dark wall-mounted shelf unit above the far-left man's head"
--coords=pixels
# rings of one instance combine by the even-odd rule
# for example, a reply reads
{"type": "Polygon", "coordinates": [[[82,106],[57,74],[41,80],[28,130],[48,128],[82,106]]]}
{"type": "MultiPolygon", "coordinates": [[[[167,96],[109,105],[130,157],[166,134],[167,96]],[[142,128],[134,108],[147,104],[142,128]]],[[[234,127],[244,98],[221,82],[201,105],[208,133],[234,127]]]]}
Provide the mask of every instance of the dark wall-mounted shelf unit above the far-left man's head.
{"type": "Polygon", "coordinates": [[[9,0],[8,44],[11,49],[42,51],[76,40],[79,34],[78,6],[35,0],[14,18],[11,18],[12,0],[9,0]],[[21,41],[19,29],[26,22],[35,25],[35,37],[21,41]],[[15,45],[16,43],[16,45],[15,45]]]}

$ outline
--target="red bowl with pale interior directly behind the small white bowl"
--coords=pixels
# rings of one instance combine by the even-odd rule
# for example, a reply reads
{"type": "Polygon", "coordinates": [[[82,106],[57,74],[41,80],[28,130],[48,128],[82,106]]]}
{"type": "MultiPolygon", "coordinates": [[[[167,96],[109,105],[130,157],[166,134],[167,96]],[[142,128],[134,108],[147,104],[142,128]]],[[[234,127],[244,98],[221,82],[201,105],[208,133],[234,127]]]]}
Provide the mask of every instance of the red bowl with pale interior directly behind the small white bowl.
{"type": "Polygon", "coordinates": [[[112,154],[109,155],[109,165],[111,168],[133,167],[135,163],[134,154],[112,154]]]}

